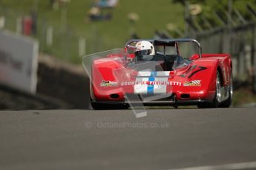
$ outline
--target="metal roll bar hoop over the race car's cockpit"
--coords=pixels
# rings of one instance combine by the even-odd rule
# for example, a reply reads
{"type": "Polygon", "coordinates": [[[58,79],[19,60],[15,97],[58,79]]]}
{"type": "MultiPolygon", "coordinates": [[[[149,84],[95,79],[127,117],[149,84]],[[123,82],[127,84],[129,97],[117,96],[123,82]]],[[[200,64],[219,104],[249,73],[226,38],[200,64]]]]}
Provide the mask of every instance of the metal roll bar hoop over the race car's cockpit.
{"type": "Polygon", "coordinates": [[[175,44],[178,44],[179,42],[192,42],[192,43],[197,44],[199,57],[202,58],[202,47],[201,47],[200,43],[197,40],[193,39],[193,38],[174,38],[174,39],[159,39],[159,40],[154,40],[154,39],[132,39],[131,41],[128,41],[125,44],[125,47],[135,49],[135,46],[131,45],[131,44],[135,44],[138,41],[142,41],[142,40],[150,41],[155,46],[175,46],[175,44]]]}

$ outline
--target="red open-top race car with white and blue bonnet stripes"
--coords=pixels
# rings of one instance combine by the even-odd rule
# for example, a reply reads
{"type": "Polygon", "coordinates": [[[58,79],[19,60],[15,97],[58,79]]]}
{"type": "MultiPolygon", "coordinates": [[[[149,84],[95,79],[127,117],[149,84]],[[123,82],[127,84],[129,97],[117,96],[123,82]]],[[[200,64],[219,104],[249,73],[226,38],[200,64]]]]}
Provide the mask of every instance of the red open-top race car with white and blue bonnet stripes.
{"type": "Polygon", "coordinates": [[[191,38],[128,41],[124,49],[83,58],[93,109],[232,104],[232,58],[202,54],[191,38]]]}

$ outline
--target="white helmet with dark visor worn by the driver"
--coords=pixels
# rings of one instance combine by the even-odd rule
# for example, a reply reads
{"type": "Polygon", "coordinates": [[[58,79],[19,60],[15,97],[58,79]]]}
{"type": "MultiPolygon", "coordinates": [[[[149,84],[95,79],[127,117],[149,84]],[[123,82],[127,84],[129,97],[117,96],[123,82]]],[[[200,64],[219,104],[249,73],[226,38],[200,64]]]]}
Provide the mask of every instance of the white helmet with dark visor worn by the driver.
{"type": "Polygon", "coordinates": [[[135,56],[154,55],[154,46],[149,41],[139,41],[135,45],[135,56]]]}

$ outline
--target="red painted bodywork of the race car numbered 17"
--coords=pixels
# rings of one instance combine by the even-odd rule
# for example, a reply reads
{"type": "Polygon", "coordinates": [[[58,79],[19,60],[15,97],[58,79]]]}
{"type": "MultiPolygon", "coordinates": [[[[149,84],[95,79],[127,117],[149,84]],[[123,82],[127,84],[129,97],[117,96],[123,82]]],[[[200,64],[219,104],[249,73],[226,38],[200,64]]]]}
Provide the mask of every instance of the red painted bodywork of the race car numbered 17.
{"type": "MultiPolygon", "coordinates": [[[[134,55],[127,55],[126,57],[134,58],[134,55]]],[[[168,84],[159,83],[166,85],[163,94],[175,95],[176,102],[187,105],[191,101],[212,101],[216,91],[217,71],[220,73],[221,86],[231,85],[232,59],[229,54],[202,54],[201,58],[195,54],[190,59],[191,63],[184,67],[165,71],[165,74],[168,73],[168,76],[165,76],[168,84]],[[191,83],[193,81],[197,82],[191,83]]],[[[127,60],[123,59],[122,54],[111,54],[106,58],[94,60],[91,67],[92,100],[125,102],[127,94],[136,93],[135,84],[130,82],[135,82],[138,74],[136,69],[128,67],[127,60]],[[105,86],[102,86],[102,82],[105,86]]],[[[145,86],[153,86],[151,84],[158,86],[154,81],[145,81],[143,84],[147,84],[145,86]]],[[[143,94],[146,95],[146,93],[143,94]]],[[[158,92],[157,95],[159,94],[158,92]]]]}

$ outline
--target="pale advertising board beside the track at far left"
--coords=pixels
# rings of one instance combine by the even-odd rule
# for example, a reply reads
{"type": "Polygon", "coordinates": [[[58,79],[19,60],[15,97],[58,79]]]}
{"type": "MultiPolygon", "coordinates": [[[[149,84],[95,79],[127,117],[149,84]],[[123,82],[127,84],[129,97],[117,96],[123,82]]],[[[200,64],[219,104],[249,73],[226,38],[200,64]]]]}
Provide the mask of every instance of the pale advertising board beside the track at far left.
{"type": "Polygon", "coordinates": [[[0,30],[0,83],[35,93],[38,51],[32,38],[0,30]]]}

